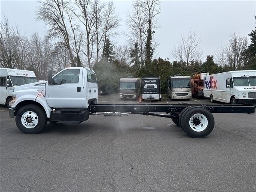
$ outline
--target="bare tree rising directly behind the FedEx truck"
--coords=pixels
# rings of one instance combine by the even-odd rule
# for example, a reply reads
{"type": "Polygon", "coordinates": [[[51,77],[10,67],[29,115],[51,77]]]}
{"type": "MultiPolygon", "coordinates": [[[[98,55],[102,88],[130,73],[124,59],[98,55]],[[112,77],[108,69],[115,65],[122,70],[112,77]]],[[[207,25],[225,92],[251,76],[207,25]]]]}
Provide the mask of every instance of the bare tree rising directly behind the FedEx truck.
{"type": "Polygon", "coordinates": [[[226,46],[216,52],[217,63],[226,66],[230,70],[239,70],[244,65],[242,53],[247,48],[248,40],[246,37],[238,36],[236,32],[230,35],[226,46]]]}

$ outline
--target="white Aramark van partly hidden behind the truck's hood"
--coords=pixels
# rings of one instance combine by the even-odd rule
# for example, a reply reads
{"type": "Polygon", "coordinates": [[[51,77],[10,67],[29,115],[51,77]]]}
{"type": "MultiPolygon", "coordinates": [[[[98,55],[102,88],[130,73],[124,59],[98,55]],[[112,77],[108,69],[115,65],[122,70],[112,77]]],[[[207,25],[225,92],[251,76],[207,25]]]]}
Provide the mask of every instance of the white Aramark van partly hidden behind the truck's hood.
{"type": "Polygon", "coordinates": [[[33,71],[0,68],[0,104],[10,108],[16,86],[38,82],[33,71]]]}

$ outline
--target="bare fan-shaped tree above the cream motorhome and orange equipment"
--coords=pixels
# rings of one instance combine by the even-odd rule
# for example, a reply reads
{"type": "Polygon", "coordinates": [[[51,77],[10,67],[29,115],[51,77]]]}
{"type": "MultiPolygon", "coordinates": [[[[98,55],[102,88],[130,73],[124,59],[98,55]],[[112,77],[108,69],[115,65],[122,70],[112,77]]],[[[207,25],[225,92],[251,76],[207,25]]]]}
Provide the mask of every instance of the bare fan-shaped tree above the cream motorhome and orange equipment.
{"type": "Polygon", "coordinates": [[[181,40],[178,42],[178,47],[174,46],[171,52],[174,60],[186,62],[187,65],[193,60],[200,60],[203,52],[199,48],[200,38],[196,32],[190,29],[187,36],[181,35],[181,40]]]}

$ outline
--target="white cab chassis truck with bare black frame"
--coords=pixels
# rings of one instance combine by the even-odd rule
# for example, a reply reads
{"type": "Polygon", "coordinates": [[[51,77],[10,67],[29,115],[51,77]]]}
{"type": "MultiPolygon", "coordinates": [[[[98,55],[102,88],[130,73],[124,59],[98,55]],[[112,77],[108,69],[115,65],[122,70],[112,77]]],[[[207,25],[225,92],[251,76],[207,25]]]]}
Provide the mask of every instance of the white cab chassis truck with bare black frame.
{"type": "Polygon", "coordinates": [[[15,116],[16,125],[23,133],[36,134],[48,121],[76,124],[88,120],[90,115],[153,115],[171,118],[189,136],[203,138],[214,128],[214,112],[254,113],[254,106],[97,104],[97,90],[96,75],[89,68],[66,68],[53,77],[50,71],[48,81],[15,89],[9,116],[15,116]]]}

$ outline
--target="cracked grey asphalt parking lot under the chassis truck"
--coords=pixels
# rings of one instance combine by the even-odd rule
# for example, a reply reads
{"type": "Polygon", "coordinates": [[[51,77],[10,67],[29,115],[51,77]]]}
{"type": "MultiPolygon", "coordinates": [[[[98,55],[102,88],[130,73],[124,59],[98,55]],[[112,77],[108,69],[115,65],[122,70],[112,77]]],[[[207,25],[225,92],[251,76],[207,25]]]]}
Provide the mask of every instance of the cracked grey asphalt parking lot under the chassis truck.
{"type": "MultiPolygon", "coordinates": [[[[139,102],[118,94],[98,100],[139,102]]],[[[163,97],[153,103],[179,102],[163,97]]],[[[190,138],[169,118],[135,114],[48,124],[40,134],[27,135],[0,106],[0,191],[255,192],[256,114],[214,118],[214,130],[202,139],[190,138]]]]}

